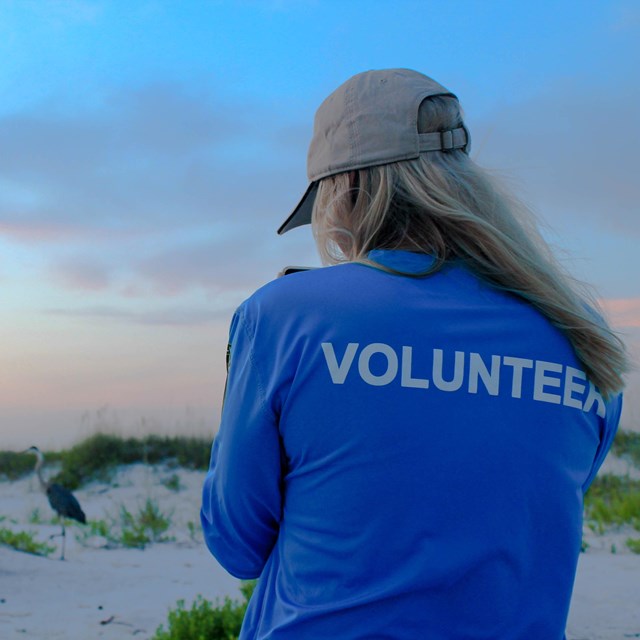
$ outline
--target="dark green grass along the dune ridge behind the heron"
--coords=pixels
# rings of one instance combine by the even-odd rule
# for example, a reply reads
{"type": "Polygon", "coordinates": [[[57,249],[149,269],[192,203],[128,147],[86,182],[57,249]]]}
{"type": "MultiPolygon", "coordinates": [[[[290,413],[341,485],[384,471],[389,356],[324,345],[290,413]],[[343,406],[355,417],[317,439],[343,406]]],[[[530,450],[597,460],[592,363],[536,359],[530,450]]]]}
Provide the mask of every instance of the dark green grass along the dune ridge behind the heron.
{"type": "MultiPolygon", "coordinates": [[[[176,467],[205,470],[209,466],[211,439],[184,436],[145,436],[123,438],[98,433],[65,451],[46,452],[47,463],[57,462],[59,472],[51,478],[68,489],[77,489],[92,480],[108,482],[119,465],[144,462],[173,464],[176,467]]],[[[33,470],[33,454],[0,451],[0,476],[9,480],[33,470]]]]}

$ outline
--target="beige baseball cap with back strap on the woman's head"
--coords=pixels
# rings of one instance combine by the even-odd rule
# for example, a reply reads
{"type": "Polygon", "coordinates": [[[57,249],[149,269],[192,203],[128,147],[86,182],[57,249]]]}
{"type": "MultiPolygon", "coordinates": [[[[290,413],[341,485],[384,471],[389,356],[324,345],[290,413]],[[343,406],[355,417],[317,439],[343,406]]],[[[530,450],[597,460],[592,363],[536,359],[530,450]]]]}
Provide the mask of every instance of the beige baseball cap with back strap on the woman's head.
{"type": "Polygon", "coordinates": [[[316,112],[307,155],[309,187],[278,233],[311,222],[322,178],[411,160],[427,151],[463,149],[468,153],[471,139],[464,125],[418,133],[418,109],[431,96],[456,98],[435,80],[411,69],[365,71],[340,85],[316,112]]]}

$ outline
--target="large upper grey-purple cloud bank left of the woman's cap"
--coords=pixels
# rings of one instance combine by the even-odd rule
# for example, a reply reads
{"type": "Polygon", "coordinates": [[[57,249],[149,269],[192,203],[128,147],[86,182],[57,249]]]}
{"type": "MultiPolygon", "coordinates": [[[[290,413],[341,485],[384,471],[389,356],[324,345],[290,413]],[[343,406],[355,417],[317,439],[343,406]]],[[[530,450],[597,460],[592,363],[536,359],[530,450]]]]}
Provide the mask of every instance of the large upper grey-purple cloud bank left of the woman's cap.
{"type": "Polygon", "coordinates": [[[0,232],[122,235],[277,205],[273,183],[288,168],[276,160],[291,153],[274,135],[278,117],[167,83],[120,89],[93,110],[46,104],[0,117],[0,232]]]}

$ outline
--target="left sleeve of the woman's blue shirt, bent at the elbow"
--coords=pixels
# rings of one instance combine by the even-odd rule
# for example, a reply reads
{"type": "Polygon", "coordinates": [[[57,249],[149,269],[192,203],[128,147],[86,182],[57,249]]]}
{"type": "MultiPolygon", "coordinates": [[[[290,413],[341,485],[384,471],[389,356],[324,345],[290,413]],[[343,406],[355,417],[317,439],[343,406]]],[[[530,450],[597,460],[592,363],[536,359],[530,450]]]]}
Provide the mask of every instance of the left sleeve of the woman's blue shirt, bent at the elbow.
{"type": "Polygon", "coordinates": [[[262,573],[282,513],[278,420],[265,398],[253,342],[242,306],[231,323],[222,420],[200,512],[207,547],[241,579],[262,573]]]}

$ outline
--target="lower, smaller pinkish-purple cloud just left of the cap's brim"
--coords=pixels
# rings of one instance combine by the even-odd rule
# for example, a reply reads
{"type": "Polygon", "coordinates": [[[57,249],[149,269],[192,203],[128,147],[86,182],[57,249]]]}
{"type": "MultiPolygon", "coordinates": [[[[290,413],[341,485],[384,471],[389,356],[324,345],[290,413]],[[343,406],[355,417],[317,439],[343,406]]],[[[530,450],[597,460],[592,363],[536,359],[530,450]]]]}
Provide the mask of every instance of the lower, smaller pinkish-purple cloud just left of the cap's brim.
{"type": "MultiPolygon", "coordinates": [[[[150,238],[121,238],[57,251],[44,269],[55,286],[79,292],[109,291],[122,298],[178,297],[193,292],[243,295],[276,276],[285,263],[310,262],[311,238],[277,238],[269,221],[150,238]],[[283,243],[283,250],[278,245],[283,243]],[[284,257],[284,246],[287,246],[284,257]],[[297,249],[297,251],[296,251],[297,249]],[[63,255],[59,255],[62,253],[63,255]]],[[[309,234],[310,236],[310,234],[309,234]]],[[[86,244],[86,243],[85,243],[86,244]]]]}

